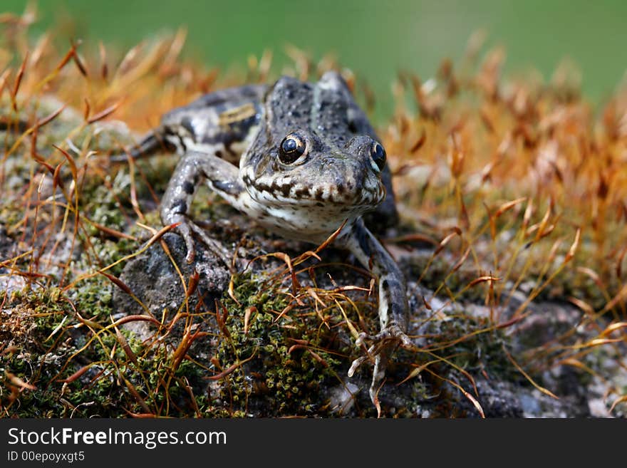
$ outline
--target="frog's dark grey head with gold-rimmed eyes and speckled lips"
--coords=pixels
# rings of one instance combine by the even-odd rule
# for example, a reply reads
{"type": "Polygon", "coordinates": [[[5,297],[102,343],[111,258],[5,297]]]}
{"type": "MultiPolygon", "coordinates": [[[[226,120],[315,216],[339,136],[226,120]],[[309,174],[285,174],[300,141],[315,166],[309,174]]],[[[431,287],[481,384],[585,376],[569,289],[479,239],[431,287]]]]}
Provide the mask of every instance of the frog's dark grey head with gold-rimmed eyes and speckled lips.
{"type": "MultiPolygon", "coordinates": [[[[264,119],[242,177],[249,194],[275,207],[324,207],[361,214],[385,198],[385,150],[349,122],[348,90],[323,77],[315,85],[281,78],[266,94],[264,119]]],[[[343,85],[346,86],[346,85],[343,85]]]]}

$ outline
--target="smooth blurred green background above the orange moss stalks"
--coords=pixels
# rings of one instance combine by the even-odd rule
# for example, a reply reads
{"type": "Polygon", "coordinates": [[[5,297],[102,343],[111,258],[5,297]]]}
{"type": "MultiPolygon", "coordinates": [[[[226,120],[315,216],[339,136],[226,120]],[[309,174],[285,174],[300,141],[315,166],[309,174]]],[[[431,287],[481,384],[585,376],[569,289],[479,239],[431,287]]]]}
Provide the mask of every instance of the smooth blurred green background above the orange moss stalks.
{"type": "MultiPolygon", "coordinates": [[[[21,12],[24,0],[1,0],[21,12]]],[[[473,31],[507,50],[507,73],[537,69],[550,78],[571,58],[584,94],[600,103],[627,69],[627,1],[584,0],[41,0],[34,31],[75,21],[66,31],[87,42],[132,46],[147,36],[187,26],[185,53],[207,66],[246,66],[266,48],[286,61],[286,44],[314,58],[333,52],[374,88],[378,113],[391,109],[399,69],[421,78],[442,58],[459,59],[473,31]]],[[[62,31],[64,31],[62,29],[62,31]]]]}

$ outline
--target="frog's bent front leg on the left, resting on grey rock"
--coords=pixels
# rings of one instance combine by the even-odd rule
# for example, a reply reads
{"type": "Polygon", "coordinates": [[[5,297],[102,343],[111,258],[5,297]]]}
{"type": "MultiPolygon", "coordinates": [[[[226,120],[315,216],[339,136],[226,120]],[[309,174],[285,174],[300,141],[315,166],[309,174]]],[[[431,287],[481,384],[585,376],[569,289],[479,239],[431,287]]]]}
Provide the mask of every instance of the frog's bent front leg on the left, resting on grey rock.
{"type": "Polygon", "coordinates": [[[222,244],[209,237],[188,216],[196,188],[203,179],[214,192],[237,207],[237,198],[244,192],[237,167],[211,153],[190,151],[183,155],[167,185],[161,201],[161,221],[165,226],[178,223],[177,232],[187,247],[187,263],[194,261],[192,234],[196,234],[230,268],[227,251],[222,244]]]}

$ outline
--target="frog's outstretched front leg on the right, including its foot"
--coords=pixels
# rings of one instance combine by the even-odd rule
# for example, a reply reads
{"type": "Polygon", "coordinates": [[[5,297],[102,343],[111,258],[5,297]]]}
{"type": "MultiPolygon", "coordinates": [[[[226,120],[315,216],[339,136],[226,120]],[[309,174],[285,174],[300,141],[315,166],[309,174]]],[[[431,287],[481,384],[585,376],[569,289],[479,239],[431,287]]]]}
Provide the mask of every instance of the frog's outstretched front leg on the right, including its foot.
{"type": "MultiPolygon", "coordinates": [[[[394,259],[368,231],[361,219],[353,224],[350,231],[341,234],[338,240],[378,278],[380,332],[375,336],[362,333],[358,338],[358,344],[364,341],[372,343],[368,354],[375,356],[375,365],[370,395],[375,402],[379,385],[385,377],[385,367],[391,351],[399,343],[412,345],[405,334],[409,321],[405,279],[394,259]]],[[[348,377],[351,377],[366,359],[367,357],[363,357],[354,360],[348,370],[348,377]]]]}

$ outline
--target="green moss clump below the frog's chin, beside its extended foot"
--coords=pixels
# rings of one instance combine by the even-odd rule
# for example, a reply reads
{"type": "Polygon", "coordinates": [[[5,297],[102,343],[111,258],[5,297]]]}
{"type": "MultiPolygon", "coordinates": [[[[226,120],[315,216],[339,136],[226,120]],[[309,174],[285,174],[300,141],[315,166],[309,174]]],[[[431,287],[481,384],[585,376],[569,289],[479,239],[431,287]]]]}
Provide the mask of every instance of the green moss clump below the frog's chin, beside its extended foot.
{"type": "Polygon", "coordinates": [[[339,363],[325,348],[331,333],[321,328],[315,314],[276,316],[288,304],[287,296],[254,276],[239,276],[235,294],[242,303],[224,300],[229,312],[227,333],[217,347],[216,357],[222,369],[240,363],[224,382],[219,398],[229,415],[254,412],[261,415],[318,414],[324,397],[324,385],[334,382],[333,368],[339,363]],[[244,333],[244,311],[254,307],[249,328],[244,333]],[[308,343],[323,360],[306,349],[291,350],[292,345],[308,343]],[[247,363],[243,360],[251,358],[247,363]]]}

